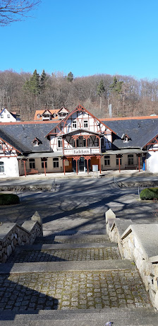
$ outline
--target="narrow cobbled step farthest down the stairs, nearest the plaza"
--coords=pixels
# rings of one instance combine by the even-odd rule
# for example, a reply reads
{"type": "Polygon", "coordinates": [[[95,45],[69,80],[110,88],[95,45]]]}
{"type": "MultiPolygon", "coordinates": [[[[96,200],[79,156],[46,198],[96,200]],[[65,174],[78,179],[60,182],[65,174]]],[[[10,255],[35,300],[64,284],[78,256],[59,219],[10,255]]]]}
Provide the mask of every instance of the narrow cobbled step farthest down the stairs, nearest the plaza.
{"type": "Polygon", "coordinates": [[[49,235],[37,237],[35,244],[54,244],[54,243],[109,243],[108,235],[49,235]]]}

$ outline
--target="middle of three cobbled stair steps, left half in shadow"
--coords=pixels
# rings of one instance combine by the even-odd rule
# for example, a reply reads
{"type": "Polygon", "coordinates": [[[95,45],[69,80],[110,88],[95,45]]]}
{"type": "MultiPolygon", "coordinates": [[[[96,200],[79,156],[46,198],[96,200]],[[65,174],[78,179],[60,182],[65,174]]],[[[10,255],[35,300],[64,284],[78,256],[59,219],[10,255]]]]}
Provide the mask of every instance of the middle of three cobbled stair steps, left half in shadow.
{"type": "Polygon", "coordinates": [[[83,260],[119,260],[119,249],[114,243],[81,243],[20,246],[8,258],[9,263],[61,262],[83,260]]]}

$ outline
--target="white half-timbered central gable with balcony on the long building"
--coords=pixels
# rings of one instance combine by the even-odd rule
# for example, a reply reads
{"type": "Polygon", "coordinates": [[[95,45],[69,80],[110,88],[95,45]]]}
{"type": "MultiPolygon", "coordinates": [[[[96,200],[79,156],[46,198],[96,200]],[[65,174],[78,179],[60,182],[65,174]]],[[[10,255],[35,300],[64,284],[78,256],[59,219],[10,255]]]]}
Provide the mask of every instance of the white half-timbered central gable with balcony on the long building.
{"type": "Polygon", "coordinates": [[[78,155],[79,153],[76,151],[76,147],[78,149],[83,148],[83,150],[85,147],[88,147],[89,151],[85,154],[100,153],[99,135],[102,136],[102,147],[106,150],[111,149],[111,130],[88,112],[76,111],[68,119],[64,119],[59,126],[54,128],[50,135],[50,145],[51,149],[56,153],[63,153],[64,145],[64,154],[67,155],[78,155]],[[88,135],[89,137],[87,137],[88,135]],[[76,137],[76,146],[74,136],[78,136],[76,137]],[[98,147],[98,149],[95,150],[95,147],[98,147]]]}

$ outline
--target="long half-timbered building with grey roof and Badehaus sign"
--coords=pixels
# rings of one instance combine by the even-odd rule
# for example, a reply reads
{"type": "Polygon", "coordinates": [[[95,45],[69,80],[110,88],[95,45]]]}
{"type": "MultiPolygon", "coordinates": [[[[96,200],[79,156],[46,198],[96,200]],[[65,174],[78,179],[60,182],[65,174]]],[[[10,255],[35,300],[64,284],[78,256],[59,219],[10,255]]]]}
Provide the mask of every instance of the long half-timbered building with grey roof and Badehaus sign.
{"type": "Polygon", "coordinates": [[[78,105],[62,120],[0,124],[0,177],[89,173],[94,165],[155,173],[157,153],[158,116],[99,120],[78,105]]]}

